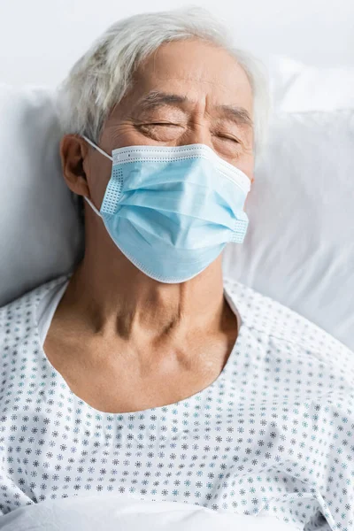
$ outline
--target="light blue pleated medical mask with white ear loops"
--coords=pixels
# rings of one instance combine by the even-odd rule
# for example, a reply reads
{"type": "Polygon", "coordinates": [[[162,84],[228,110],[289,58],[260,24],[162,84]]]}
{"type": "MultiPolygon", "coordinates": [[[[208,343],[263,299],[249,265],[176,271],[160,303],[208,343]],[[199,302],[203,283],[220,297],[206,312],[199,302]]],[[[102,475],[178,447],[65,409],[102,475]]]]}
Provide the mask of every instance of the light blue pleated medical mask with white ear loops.
{"type": "Polygon", "coordinates": [[[143,273],[166,283],[189,281],[242,243],[250,179],[208,146],[129,146],[112,150],[112,175],[100,212],[119,250],[143,273]]]}

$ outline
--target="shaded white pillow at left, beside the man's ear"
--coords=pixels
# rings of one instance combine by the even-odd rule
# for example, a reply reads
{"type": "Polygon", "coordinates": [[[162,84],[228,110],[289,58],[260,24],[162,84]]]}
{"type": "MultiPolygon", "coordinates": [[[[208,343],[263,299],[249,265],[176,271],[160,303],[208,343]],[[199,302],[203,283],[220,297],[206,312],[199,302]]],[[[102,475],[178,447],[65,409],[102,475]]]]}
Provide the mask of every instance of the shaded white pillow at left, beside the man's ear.
{"type": "Polygon", "coordinates": [[[0,84],[0,306],[68,272],[81,255],[60,137],[48,89],[0,84]]]}

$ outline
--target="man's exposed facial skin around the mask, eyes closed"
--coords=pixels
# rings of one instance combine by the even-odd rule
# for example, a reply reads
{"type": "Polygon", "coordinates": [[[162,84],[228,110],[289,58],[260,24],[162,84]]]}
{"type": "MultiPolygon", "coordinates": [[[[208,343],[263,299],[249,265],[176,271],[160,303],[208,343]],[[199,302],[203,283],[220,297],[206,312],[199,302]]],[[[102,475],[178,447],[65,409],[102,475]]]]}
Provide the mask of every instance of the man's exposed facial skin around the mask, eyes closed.
{"type": "MultiPolygon", "coordinates": [[[[225,50],[200,41],[163,44],[135,73],[100,138],[112,150],[130,145],[204,143],[253,180],[252,94],[242,67],[225,50]]],[[[90,150],[87,180],[98,207],[112,163],[90,150]]]]}

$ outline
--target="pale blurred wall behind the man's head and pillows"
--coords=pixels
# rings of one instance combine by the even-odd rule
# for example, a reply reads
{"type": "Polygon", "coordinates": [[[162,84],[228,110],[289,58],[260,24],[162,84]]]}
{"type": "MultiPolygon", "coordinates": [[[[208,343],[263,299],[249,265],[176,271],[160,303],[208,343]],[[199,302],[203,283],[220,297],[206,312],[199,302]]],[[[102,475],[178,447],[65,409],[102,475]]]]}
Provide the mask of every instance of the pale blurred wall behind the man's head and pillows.
{"type": "Polygon", "coordinates": [[[353,0],[0,0],[0,78],[56,85],[112,22],[137,12],[203,5],[259,58],[354,65],[353,0]]]}

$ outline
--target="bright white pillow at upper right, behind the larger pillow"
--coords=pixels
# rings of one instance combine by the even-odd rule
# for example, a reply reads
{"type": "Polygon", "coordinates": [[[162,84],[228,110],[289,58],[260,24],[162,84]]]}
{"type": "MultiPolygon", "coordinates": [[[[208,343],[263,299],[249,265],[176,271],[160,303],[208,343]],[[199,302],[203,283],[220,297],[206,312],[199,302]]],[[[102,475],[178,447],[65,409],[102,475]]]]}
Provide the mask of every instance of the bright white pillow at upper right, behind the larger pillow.
{"type": "Polygon", "coordinates": [[[264,61],[276,112],[354,109],[354,66],[304,65],[283,56],[264,61]]]}

